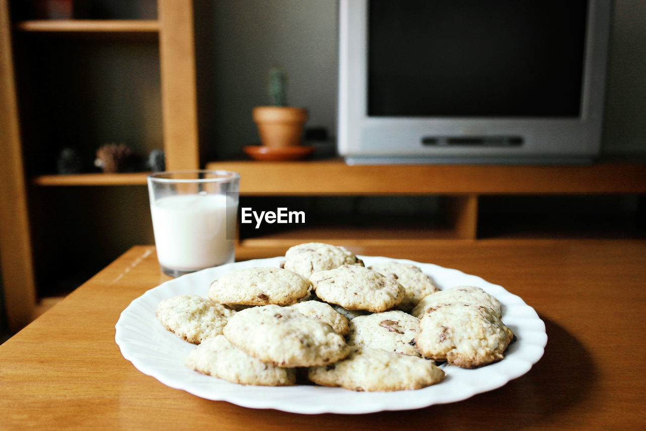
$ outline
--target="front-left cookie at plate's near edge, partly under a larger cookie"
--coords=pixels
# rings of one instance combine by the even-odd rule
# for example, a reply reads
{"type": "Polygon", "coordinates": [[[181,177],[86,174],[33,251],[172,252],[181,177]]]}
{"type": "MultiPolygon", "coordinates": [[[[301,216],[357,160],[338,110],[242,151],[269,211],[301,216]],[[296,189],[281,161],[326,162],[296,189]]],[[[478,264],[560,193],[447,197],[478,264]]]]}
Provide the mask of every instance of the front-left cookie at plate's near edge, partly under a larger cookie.
{"type": "Polygon", "coordinates": [[[296,370],[278,368],[250,357],[224,335],[209,338],[193,349],[185,366],[232,383],[259,386],[289,386],[296,383],[296,370]]]}

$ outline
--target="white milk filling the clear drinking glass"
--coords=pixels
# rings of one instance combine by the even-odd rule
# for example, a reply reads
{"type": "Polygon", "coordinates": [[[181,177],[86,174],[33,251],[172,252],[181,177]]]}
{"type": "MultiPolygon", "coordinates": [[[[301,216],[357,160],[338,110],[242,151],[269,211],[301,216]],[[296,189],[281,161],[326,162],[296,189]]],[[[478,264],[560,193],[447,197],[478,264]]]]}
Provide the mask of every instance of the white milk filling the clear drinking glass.
{"type": "Polygon", "coordinates": [[[151,203],[160,265],[196,271],[232,262],[237,206],[231,197],[207,194],[174,195],[151,203]]]}

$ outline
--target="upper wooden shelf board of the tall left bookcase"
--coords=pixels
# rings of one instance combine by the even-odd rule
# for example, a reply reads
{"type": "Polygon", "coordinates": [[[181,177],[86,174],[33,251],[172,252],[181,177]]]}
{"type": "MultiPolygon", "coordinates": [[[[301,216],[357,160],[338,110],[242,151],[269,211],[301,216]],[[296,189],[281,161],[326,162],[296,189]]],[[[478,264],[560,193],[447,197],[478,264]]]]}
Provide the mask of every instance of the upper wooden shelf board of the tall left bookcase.
{"type": "Polygon", "coordinates": [[[38,19],[16,23],[21,32],[159,32],[156,19],[38,19]]]}

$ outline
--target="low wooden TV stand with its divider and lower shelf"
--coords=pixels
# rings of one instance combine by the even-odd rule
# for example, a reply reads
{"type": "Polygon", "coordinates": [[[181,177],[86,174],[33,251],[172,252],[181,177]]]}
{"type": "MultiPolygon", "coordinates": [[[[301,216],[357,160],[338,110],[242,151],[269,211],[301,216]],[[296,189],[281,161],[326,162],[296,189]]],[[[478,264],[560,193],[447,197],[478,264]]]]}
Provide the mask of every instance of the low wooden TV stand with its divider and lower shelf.
{"type": "MultiPolygon", "coordinates": [[[[258,236],[242,237],[242,242],[250,246],[286,247],[303,241],[348,243],[377,238],[393,242],[419,239],[474,241],[481,238],[483,221],[490,223],[479,210],[481,200],[486,196],[646,194],[646,163],[643,162],[599,162],[585,166],[348,166],[338,159],[302,162],[245,160],[211,162],[207,168],[240,173],[242,196],[435,195],[439,196],[441,203],[441,213],[435,219],[370,218],[348,223],[330,217],[304,227],[273,229],[258,236]]],[[[529,220],[524,224],[522,220],[505,223],[515,225],[514,230],[521,238],[533,227],[540,227],[529,220]]],[[[565,219],[560,226],[556,223],[551,232],[558,237],[564,229],[572,230],[572,223],[568,223],[565,219]]],[[[485,226],[484,230],[496,232],[496,227],[485,226]]],[[[545,238],[545,232],[550,232],[550,228],[543,227],[539,232],[544,232],[545,238]]],[[[510,236],[509,233],[503,235],[510,236]]]]}

